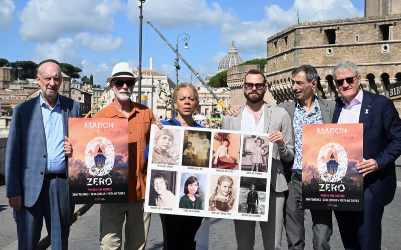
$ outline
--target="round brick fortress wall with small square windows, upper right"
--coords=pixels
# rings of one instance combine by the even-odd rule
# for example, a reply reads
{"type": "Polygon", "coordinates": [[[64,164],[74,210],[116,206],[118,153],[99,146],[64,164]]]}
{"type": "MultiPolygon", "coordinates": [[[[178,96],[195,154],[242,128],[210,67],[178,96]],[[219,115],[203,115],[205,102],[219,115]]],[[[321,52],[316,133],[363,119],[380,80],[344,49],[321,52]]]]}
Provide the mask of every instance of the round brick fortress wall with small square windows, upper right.
{"type": "Polygon", "coordinates": [[[392,14],[301,23],[270,36],[265,66],[270,92],[277,102],[294,98],[291,70],[311,64],[320,77],[316,94],[334,99],[339,94],[332,68],[351,60],[365,90],[388,96],[389,84],[401,80],[400,24],[401,14],[392,14]]]}

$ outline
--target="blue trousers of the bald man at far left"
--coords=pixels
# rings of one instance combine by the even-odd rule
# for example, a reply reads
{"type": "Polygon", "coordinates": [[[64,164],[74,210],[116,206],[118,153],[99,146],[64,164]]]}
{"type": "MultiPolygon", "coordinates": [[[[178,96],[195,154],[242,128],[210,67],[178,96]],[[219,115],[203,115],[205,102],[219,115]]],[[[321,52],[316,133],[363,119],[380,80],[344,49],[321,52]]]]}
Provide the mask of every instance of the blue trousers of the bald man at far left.
{"type": "Polygon", "coordinates": [[[45,217],[52,249],[68,248],[68,235],[74,206],[68,203],[67,179],[45,179],[38,200],[31,207],[14,210],[18,249],[36,249],[45,217]]]}

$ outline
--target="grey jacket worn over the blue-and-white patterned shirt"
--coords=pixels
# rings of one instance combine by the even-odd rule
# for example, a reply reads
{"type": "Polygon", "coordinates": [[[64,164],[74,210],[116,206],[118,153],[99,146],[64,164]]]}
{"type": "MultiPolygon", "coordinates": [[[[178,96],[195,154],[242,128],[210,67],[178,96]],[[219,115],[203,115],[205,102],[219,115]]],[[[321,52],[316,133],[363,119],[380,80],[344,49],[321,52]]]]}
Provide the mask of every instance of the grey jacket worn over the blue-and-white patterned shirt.
{"type": "MultiPolygon", "coordinates": [[[[320,112],[322,113],[322,120],[323,123],[331,123],[331,120],[333,119],[333,113],[335,109],[335,101],[334,100],[326,100],[322,98],[317,98],[319,102],[319,107],[320,107],[320,112]]],[[[291,127],[294,127],[294,113],[295,113],[295,104],[296,101],[291,101],[291,102],[282,102],[278,104],[278,107],[283,107],[285,110],[287,110],[288,114],[290,115],[291,118],[291,127]]],[[[292,132],[292,140],[295,143],[295,137],[293,133],[293,129],[291,129],[292,132]]],[[[295,149],[296,150],[296,149],[295,149]]],[[[286,175],[288,176],[289,171],[292,168],[294,161],[292,160],[290,164],[285,164],[285,172],[286,175]]]]}

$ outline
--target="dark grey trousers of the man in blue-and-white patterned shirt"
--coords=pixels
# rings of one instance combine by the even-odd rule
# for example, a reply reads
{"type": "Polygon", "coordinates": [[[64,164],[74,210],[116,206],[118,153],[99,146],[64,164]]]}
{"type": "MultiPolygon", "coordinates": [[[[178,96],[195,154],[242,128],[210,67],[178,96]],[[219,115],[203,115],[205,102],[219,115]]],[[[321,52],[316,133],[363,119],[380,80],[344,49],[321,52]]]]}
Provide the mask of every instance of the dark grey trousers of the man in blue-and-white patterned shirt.
{"type": "MultiPolygon", "coordinates": [[[[333,233],[331,210],[310,210],[312,216],[313,249],[330,249],[330,236],[333,233]]],[[[285,230],[288,249],[305,247],[305,210],[302,207],[302,181],[294,179],[291,173],[288,183],[288,197],[285,203],[285,230]]]]}

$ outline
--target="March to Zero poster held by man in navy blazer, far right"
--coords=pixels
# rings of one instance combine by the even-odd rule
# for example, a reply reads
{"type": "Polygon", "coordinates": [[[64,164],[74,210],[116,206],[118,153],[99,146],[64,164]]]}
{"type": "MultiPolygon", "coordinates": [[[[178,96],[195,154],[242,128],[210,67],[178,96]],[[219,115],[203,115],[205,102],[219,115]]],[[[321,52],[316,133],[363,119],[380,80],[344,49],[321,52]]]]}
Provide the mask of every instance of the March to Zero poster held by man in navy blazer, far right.
{"type": "Polygon", "coordinates": [[[303,207],[363,210],[363,124],[302,126],[303,207]]]}

